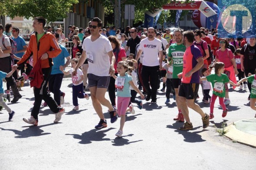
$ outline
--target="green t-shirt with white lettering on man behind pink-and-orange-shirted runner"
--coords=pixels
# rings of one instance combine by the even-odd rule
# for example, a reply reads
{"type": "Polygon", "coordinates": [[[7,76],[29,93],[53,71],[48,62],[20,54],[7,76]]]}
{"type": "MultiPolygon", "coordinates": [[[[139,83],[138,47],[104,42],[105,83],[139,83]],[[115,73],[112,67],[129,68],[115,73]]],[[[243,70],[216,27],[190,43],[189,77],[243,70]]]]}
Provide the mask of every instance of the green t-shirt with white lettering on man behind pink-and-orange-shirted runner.
{"type": "Polygon", "coordinates": [[[177,74],[181,73],[183,70],[183,56],[186,47],[183,44],[177,45],[171,44],[169,47],[168,57],[173,60],[173,79],[178,79],[177,74]]]}

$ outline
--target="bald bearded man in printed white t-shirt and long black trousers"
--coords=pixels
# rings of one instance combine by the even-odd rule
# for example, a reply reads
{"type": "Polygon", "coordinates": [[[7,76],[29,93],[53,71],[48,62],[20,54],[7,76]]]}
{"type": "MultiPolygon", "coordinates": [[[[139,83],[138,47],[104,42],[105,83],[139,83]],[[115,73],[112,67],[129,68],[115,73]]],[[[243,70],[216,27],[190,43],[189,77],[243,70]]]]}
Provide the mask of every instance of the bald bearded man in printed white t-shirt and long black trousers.
{"type": "Polygon", "coordinates": [[[151,103],[157,102],[159,69],[162,70],[163,61],[162,41],[154,38],[154,34],[156,34],[156,30],[152,27],[148,28],[148,38],[140,42],[139,51],[136,55],[136,60],[138,61],[142,51],[144,52],[141,76],[143,85],[147,90],[146,101],[151,98],[151,103]],[[149,85],[149,77],[152,89],[149,85]]]}

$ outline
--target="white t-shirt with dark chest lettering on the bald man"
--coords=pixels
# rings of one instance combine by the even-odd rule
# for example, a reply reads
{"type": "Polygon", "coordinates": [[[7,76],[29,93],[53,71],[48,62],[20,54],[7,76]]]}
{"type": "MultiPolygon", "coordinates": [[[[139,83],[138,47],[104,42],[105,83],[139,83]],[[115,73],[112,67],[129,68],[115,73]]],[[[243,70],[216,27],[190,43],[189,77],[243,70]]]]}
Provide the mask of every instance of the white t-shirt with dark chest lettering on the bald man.
{"type": "Polygon", "coordinates": [[[140,50],[144,52],[143,66],[159,66],[158,51],[162,51],[162,41],[154,38],[149,41],[148,38],[141,40],[140,50]]]}

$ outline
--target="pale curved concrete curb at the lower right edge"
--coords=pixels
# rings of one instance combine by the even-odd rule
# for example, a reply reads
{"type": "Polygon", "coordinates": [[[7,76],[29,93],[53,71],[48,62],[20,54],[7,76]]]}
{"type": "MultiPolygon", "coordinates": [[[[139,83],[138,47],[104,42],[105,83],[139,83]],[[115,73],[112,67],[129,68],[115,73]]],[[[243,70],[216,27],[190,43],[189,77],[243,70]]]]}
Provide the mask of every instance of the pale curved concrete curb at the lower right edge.
{"type": "Polygon", "coordinates": [[[234,126],[233,124],[227,126],[226,130],[228,130],[228,132],[225,135],[227,138],[229,138],[231,140],[235,140],[236,142],[241,143],[243,145],[248,145],[253,148],[256,148],[256,136],[255,135],[251,135],[251,134],[242,132],[242,131],[236,129],[236,126],[234,126]]]}

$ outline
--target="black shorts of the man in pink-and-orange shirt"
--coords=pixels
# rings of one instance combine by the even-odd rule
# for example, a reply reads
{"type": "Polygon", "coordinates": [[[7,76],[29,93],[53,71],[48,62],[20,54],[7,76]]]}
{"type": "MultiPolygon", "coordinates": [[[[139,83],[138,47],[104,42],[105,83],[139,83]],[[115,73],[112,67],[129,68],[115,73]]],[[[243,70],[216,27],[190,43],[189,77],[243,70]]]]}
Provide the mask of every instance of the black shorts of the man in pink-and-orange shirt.
{"type": "Polygon", "coordinates": [[[186,99],[196,99],[199,89],[199,83],[181,83],[179,96],[186,99]]]}

